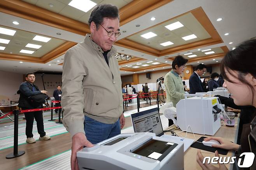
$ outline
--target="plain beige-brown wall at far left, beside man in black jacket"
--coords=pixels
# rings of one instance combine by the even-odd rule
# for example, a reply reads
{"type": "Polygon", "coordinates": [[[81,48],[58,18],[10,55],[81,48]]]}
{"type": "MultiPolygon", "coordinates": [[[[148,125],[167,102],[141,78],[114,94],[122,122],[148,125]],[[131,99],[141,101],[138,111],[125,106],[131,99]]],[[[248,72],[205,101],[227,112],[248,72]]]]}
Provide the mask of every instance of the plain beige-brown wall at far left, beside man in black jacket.
{"type": "Polygon", "coordinates": [[[18,101],[19,95],[14,95],[23,82],[23,75],[0,71],[0,104],[10,104],[10,101],[18,101]]]}

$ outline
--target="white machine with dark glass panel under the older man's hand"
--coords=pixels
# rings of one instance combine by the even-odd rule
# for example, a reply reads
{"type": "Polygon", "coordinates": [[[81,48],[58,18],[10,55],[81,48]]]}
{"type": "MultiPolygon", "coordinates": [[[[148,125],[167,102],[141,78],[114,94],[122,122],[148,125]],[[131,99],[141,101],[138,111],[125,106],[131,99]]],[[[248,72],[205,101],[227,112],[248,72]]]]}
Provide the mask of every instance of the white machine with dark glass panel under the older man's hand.
{"type": "Polygon", "coordinates": [[[80,170],[183,170],[183,143],[150,132],[120,134],[77,152],[80,170]]]}

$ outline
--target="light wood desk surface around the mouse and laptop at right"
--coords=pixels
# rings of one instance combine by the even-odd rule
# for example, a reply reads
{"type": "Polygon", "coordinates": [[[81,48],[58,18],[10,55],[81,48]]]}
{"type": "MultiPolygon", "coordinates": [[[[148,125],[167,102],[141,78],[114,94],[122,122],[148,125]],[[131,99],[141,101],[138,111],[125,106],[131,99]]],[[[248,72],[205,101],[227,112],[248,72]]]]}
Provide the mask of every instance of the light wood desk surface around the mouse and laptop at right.
{"type": "MultiPolygon", "coordinates": [[[[239,124],[239,114],[238,117],[235,117],[235,126],[234,127],[227,127],[224,124],[224,121],[221,121],[221,128],[219,128],[219,130],[216,132],[216,134],[214,135],[215,137],[223,137],[226,140],[232,141],[234,143],[237,142],[237,134],[238,134],[238,124],[239,124]]],[[[170,126],[168,129],[171,128],[175,128],[175,125],[170,126]]],[[[193,129],[192,129],[193,130],[193,129]]],[[[181,130],[175,130],[175,132],[181,132],[181,130]]],[[[166,133],[168,134],[168,133],[166,133]]],[[[185,137],[186,132],[181,132],[179,133],[179,135],[182,135],[183,137],[185,137]]],[[[206,136],[208,137],[209,135],[199,135],[199,134],[195,134],[196,140],[198,140],[200,137],[202,136],[206,136]]],[[[187,134],[187,138],[189,139],[195,139],[194,135],[191,133],[187,134]]],[[[202,168],[199,166],[199,164],[196,162],[196,153],[197,153],[196,148],[193,147],[189,147],[188,150],[184,153],[184,170],[202,170],[202,168]]],[[[204,151],[201,150],[203,156],[210,156],[213,157],[215,156],[214,153],[209,152],[209,151],[204,151]]],[[[222,156],[221,154],[219,154],[220,156],[222,156]]],[[[225,156],[233,156],[234,155],[234,151],[229,151],[227,155],[225,156]]],[[[218,165],[216,165],[218,166],[218,165]]],[[[230,164],[226,165],[226,167],[228,169],[230,169],[230,164]]]]}

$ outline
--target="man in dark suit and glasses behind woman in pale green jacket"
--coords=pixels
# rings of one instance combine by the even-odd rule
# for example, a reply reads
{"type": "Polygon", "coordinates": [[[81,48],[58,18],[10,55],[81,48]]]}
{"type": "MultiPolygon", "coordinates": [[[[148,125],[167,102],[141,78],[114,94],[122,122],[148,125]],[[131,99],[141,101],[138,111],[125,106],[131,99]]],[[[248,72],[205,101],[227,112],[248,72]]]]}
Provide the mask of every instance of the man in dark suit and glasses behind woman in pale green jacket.
{"type": "Polygon", "coordinates": [[[204,92],[203,83],[200,80],[206,71],[206,66],[204,64],[199,64],[196,66],[196,70],[189,78],[189,94],[195,94],[196,92],[204,92]]]}

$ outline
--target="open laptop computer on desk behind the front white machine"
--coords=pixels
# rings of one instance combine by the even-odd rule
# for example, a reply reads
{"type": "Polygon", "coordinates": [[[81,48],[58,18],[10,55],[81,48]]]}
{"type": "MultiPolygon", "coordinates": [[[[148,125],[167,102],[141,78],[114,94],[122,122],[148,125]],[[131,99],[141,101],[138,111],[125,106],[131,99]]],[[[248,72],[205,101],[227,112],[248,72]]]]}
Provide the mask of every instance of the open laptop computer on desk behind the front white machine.
{"type": "Polygon", "coordinates": [[[194,139],[182,138],[172,135],[165,135],[163,133],[163,126],[160,119],[158,108],[141,111],[131,114],[132,125],[134,132],[152,132],[158,137],[164,137],[168,139],[180,140],[184,143],[184,152],[188,147],[193,144],[194,139]]]}

